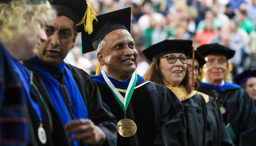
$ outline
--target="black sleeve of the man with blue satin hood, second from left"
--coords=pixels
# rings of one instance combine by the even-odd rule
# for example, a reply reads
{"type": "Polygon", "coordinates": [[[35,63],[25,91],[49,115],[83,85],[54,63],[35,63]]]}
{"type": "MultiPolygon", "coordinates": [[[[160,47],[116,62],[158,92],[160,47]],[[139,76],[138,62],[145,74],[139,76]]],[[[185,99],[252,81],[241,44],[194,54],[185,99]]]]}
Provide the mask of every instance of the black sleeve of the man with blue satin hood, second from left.
{"type": "Polygon", "coordinates": [[[98,126],[106,135],[105,145],[116,145],[117,125],[115,116],[102,102],[97,84],[82,69],[78,69],[70,64],[66,64],[71,70],[78,88],[84,98],[89,119],[98,126]]]}

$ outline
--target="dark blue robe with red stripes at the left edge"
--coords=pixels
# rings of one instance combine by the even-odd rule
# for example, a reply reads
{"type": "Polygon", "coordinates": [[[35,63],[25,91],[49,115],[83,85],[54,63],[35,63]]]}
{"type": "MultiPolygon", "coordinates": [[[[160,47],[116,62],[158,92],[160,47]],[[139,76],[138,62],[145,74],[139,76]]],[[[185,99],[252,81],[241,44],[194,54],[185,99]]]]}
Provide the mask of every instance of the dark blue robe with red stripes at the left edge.
{"type": "Polygon", "coordinates": [[[32,140],[27,95],[10,60],[0,39],[0,145],[25,146],[32,140]]]}

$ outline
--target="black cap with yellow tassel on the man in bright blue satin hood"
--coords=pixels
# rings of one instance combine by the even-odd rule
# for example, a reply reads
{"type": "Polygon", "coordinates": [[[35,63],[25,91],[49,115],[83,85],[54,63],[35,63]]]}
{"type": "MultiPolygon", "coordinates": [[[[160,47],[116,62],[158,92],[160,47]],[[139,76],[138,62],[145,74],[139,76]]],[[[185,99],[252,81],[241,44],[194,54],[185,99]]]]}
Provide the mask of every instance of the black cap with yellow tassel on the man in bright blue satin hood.
{"type": "MultiPolygon", "coordinates": [[[[66,16],[76,25],[84,18],[87,3],[86,0],[52,0],[52,7],[57,11],[58,16],[66,16]]],[[[77,32],[84,32],[83,24],[77,26],[77,32]]]]}

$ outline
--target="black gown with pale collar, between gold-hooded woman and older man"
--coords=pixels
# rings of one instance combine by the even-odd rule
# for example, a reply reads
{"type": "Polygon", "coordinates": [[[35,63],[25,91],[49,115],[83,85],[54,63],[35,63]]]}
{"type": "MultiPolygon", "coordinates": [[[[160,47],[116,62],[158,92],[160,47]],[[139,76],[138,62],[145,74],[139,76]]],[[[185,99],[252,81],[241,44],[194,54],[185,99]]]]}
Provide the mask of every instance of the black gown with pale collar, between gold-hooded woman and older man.
{"type": "Polygon", "coordinates": [[[201,94],[207,105],[207,146],[233,146],[233,142],[225,127],[218,103],[213,97],[197,91],[201,94]]]}

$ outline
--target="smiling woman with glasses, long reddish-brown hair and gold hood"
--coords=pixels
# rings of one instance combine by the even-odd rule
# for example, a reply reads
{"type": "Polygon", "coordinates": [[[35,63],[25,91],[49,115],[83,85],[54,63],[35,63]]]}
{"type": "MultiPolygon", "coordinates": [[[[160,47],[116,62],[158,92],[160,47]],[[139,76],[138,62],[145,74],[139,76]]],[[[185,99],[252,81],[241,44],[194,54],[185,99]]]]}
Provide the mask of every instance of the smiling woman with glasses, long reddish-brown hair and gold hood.
{"type": "Polygon", "coordinates": [[[189,83],[187,55],[192,48],[191,40],[164,40],[148,47],[142,52],[152,64],[144,77],[148,81],[165,85],[176,94],[184,107],[188,145],[205,146],[206,102],[189,83]]]}

